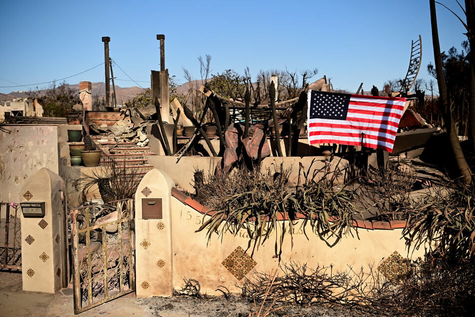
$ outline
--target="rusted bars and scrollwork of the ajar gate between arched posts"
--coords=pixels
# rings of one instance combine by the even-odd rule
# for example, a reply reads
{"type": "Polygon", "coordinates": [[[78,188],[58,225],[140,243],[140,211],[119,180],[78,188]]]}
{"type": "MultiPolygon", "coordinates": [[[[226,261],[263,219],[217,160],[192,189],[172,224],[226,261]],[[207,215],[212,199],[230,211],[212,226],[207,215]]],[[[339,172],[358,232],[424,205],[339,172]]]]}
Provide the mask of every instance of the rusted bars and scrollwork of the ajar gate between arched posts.
{"type": "MultiPolygon", "coordinates": [[[[110,202],[117,207],[118,220],[111,221],[99,225],[91,225],[90,212],[95,205],[89,205],[71,210],[72,216],[72,254],[73,254],[73,298],[74,298],[74,313],[78,314],[82,311],[100,305],[106,301],[110,301],[119,296],[135,291],[135,271],[134,271],[134,231],[133,231],[133,206],[132,198],[117,200],[110,202]],[[108,252],[111,243],[108,243],[106,233],[106,226],[117,225],[117,243],[118,248],[112,248],[112,252],[108,252]],[[124,232],[125,230],[125,232],[124,232]],[[92,257],[100,254],[91,249],[91,233],[99,232],[98,240],[102,242],[102,258],[96,257],[102,261],[102,267],[99,271],[92,270],[92,257]],[[100,234],[101,233],[101,234],[100,234]],[[124,234],[125,233],[125,234],[124,234]],[[127,234],[128,233],[128,234],[127,234]],[[82,258],[79,258],[79,235],[85,234],[85,253],[82,258]],[[123,237],[128,235],[128,243],[124,243],[123,237]],[[110,255],[116,252],[117,256],[112,258],[116,261],[116,265],[108,267],[111,260],[110,255]],[[93,254],[95,253],[95,254],[93,254]],[[111,279],[118,278],[118,292],[110,294],[109,290],[111,279]],[[102,285],[103,296],[102,299],[98,297],[97,288],[93,284],[102,285]],[[125,289],[124,285],[128,285],[125,289]],[[96,292],[94,296],[93,291],[96,292]],[[87,298],[84,298],[87,295],[87,298]],[[95,299],[95,300],[94,300],[95,299]],[[97,300],[98,299],[98,300],[97,300]]],[[[113,243],[112,243],[113,244],[113,243]]],[[[115,244],[113,244],[116,246],[115,244]]]]}

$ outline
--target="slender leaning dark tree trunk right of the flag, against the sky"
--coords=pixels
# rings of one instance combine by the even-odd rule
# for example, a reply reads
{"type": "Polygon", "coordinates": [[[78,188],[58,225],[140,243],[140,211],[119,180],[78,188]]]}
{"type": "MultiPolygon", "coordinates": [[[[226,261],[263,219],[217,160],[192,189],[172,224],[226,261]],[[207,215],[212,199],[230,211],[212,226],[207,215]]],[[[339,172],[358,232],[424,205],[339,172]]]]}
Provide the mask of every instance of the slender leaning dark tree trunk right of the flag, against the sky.
{"type": "Polygon", "coordinates": [[[459,172],[464,177],[466,183],[472,182],[472,170],[470,169],[467,160],[465,159],[464,152],[460,146],[459,137],[455,129],[454,119],[452,117],[452,111],[449,106],[449,100],[447,97],[447,86],[443,71],[443,63],[441,56],[441,47],[439,43],[439,30],[437,27],[437,14],[436,14],[436,2],[435,0],[429,0],[431,7],[431,24],[432,24],[432,42],[434,45],[434,63],[436,65],[437,83],[439,84],[440,99],[443,107],[443,113],[446,121],[447,132],[454,152],[455,159],[457,161],[457,167],[459,172]]]}

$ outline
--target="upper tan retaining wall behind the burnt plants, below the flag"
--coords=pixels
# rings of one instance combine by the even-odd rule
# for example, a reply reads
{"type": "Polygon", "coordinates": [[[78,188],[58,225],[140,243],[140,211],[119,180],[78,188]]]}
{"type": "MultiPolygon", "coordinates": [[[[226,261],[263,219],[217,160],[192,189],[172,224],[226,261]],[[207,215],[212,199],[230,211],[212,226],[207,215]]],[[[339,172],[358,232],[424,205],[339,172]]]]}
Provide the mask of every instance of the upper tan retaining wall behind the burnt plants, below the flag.
{"type": "MultiPolygon", "coordinates": [[[[178,188],[191,193],[195,192],[192,186],[194,171],[196,169],[203,169],[205,176],[208,176],[210,171],[211,173],[214,172],[216,165],[221,159],[221,157],[183,156],[177,163],[176,156],[147,155],[146,157],[149,164],[168,173],[178,188]]],[[[266,157],[262,160],[262,166],[263,168],[269,167],[271,170],[274,170],[274,166],[279,167],[281,163],[283,163],[284,168],[292,166],[289,180],[296,182],[298,180],[299,162],[304,166],[305,172],[312,166],[310,169],[310,174],[312,174],[314,169],[320,169],[325,166],[325,157],[266,157]],[[315,162],[312,165],[311,162],[314,159],[315,162]]],[[[344,169],[348,166],[348,161],[346,159],[340,160],[339,157],[335,157],[335,159],[330,162],[330,169],[334,170],[336,166],[339,166],[340,169],[344,169]]],[[[340,180],[343,181],[343,178],[340,180]]]]}

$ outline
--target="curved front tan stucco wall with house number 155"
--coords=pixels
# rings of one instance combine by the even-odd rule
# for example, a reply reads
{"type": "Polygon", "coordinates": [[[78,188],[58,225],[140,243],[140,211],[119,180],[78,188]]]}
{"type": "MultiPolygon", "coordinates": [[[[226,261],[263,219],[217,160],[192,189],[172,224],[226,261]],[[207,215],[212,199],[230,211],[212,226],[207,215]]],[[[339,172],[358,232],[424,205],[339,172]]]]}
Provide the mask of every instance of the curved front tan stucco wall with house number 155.
{"type": "MultiPolygon", "coordinates": [[[[247,233],[241,231],[237,236],[225,234],[221,240],[213,234],[208,242],[206,231],[195,232],[199,228],[203,214],[183,204],[175,197],[171,205],[172,245],[173,245],[173,285],[175,289],[184,286],[183,277],[199,281],[201,291],[207,294],[218,294],[215,290],[224,285],[232,292],[239,292],[238,280],[222,264],[223,260],[238,246],[247,248],[247,233]],[[207,245],[208,243],[208,245],[207,245]]],[[[307,229],[309,239],[300,229],[301,220],[296,225],[293,235],[294,246],[291,247],[290,235],[286,235],[283,244],[281,264],[291,261],[300,264],[307,263],[310,268],[317,265],[333,264],[336,270],[348,270],[349,266],[359,271],[361,267],[369,270],[369,264],[378,266],[383,257],[388,257],[394,251],[408,256],[405,241],[402,239],[402,229],[395,230],[366,230],[359,228],[354,235],[347,235],[335,246],[329,247],[317,235],[307,229]]],[[[253,258],[257,262],[256,271],[269,273],[279,266],[274,258],[275,239],[269,239],[259,247],[253,258]]],[[[138,246],[139,247],[139,246],[138,246]]],[[[250,255],[251,251],[247,251],[250,255]]],[[[422,256],[419,250],[412,257],[422,256]]],[[[246,275],[250,277],[250,275],[246,275]]]]}

